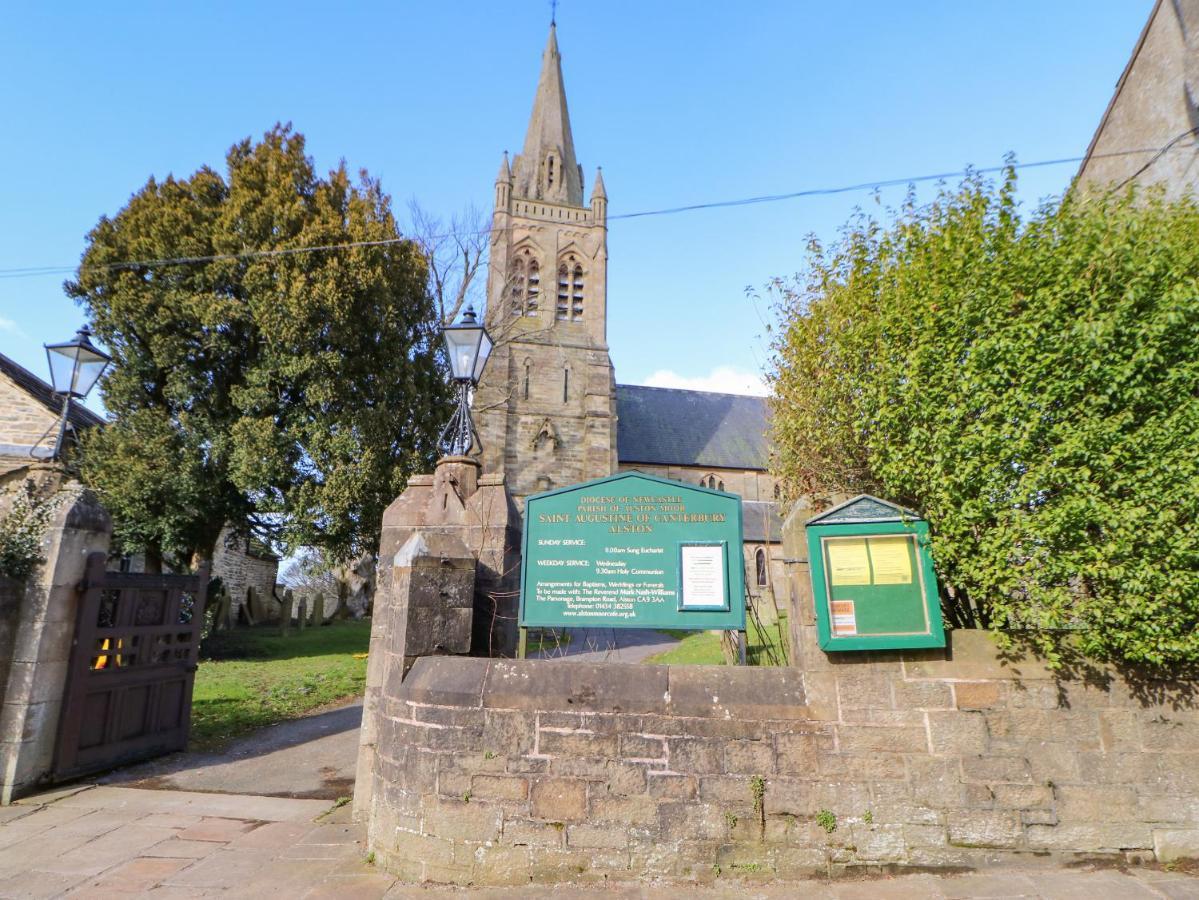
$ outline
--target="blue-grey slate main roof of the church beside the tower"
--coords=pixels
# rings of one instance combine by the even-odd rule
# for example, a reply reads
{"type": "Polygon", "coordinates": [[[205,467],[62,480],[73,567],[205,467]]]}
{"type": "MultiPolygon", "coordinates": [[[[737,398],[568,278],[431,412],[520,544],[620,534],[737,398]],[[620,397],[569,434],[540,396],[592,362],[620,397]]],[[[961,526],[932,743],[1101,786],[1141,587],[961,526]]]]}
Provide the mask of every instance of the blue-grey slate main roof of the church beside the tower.
{"type": "Polygon", "coordinates": [[[764,397],[616,385],[621,463],[765,470],[764,397]]]}

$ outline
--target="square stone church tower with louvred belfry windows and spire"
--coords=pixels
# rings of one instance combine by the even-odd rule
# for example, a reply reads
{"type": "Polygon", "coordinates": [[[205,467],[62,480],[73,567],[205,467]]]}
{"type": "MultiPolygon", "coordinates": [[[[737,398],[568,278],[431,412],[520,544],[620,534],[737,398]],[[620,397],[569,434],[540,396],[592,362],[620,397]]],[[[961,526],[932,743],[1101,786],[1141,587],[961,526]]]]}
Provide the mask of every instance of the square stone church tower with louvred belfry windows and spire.
{"type": "Polygon", "coordinates": [[[616,471],[608,356],[608,195],[589,205],[574,158],[558,36],[550,25],[524,149],[495,179],[487,328],[475,392],[483,471],[524,499],[616,471]]]}

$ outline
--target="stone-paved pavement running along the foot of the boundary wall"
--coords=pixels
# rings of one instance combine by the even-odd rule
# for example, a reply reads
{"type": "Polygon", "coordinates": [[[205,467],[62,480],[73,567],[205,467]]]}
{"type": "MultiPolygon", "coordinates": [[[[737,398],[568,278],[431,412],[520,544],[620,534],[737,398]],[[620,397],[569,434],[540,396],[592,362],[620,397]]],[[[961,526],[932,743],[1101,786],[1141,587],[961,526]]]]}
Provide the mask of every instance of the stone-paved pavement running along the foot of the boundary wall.
{"type": "Polygon", "coordinates": [[[1199,878],[1152,869],[1020,869],[776,884],[400,884],[366,860],[349,807],[245,795],[71,787],[0,808],[0,898],[1049,898],[1199,900],[1199,878]]]}

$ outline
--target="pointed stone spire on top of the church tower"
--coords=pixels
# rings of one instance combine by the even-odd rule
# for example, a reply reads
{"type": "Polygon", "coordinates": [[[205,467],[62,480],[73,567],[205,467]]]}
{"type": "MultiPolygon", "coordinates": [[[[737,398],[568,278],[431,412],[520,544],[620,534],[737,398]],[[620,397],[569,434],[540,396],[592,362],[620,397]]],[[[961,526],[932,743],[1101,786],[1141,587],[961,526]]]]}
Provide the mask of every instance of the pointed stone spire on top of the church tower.
{"type": "Polygon", "coordinates": [[[524,150],[516,158],[512,176],[513,197],[583,206],[583,175],[574,158],[562,58],[558,53],[554,25],[549,26],[549,41],[541,58],[541,78],[524,150]]]}

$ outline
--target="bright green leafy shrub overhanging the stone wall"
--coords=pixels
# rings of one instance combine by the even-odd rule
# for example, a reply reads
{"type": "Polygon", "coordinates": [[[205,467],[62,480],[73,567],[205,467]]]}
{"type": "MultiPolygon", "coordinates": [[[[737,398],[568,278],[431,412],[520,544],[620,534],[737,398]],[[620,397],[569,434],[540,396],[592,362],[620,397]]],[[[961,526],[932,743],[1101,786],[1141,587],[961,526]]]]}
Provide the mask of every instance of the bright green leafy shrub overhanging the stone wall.
{"type": "Polygon", "coordinates": [[[777,473],[928,518],[951,624],[1199,660],[1199,207],[1010,171],[857,216],[772,285],[777,473]],[[1070,640],[1064,640],[1067,638],[1070,640]]]}

